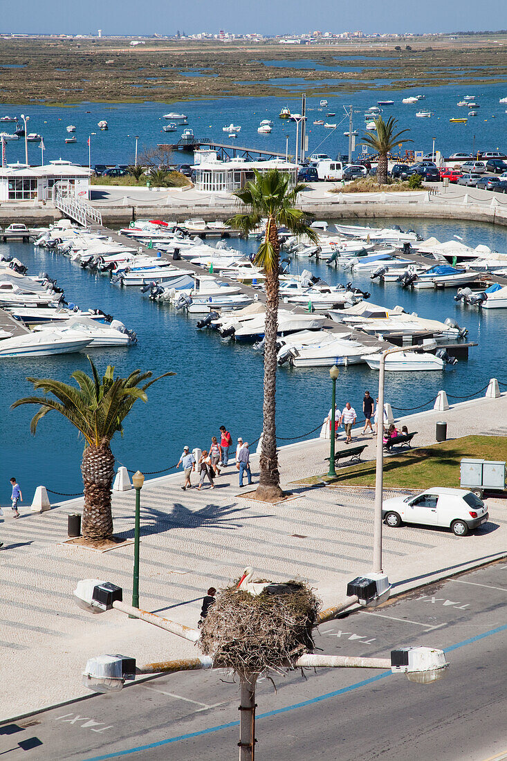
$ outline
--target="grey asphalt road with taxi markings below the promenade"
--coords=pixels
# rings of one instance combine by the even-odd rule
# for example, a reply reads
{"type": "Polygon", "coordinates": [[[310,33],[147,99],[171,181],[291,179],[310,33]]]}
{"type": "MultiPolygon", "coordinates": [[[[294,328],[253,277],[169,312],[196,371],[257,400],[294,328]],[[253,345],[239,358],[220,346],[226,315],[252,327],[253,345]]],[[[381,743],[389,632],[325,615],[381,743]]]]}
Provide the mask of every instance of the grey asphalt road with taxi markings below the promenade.
{"type": "MultiPolygon", "coordinates": [[[[387,657],[432,645],[448,652],[447,677],[419,685],[390,671],[320,669],[276,677],[276,691],[260,680],[256,758],[507,759],[506,611],[503,561],[324,624],[324,653],[387,657]]],[[[3,724],[0,753],[222,761],[238,757],[237,724],[238,685],[227,674],[178,673],[3,724]]]]}

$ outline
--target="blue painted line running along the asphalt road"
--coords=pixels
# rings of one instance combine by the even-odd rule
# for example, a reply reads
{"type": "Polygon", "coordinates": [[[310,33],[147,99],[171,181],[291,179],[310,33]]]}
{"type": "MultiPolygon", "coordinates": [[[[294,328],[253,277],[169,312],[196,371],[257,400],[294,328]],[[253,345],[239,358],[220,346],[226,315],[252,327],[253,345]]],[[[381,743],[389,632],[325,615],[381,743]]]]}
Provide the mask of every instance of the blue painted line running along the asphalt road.
{"type": "MultiPolygon", "coordinates": [[[[505,632],[507,629],[507,624],[505,626],[498,626],[496,629],[489,629],[488,632],[483,632],[483,634],[477,634],[474,637],[470,637],[469,639],[464,639],[462,642],[458,642],[456,645],[450,645],[448,648],[445,648],[445,653],[450,653],[453,650],[458,650],[459,648],[466,648],[467,645],[473,645],[474,642],[478,642],[480,639],[484,639],[486,637],[491,637],[493,634],[499,634],[499,632],[505,632]]],[[[310,698],[308,700],[304,700],[300,703],[294,703],[293,705],[286,705],[285,708],[276,708],[273,711],[268,711],[266,713],[257,715],[257,720],[261,718],[269,718],[270,716],[277,716],[282,713],[287,713],[289,711],[295,711],[297,708],[305,708],[307,705],[314,705],[314,703],[319,703],[323,700],[327,700],[330,698],[336,698],[340,695],[344,695],[345,693],[352,692],[353,689],[358,689],[359,687],[365,687],[368,684],[372,684],[374,682],[378,682],[378,680],[384,679],[384,677],[391,677],[392,673],[391,671],[383,671],[382,673],[376,674],[375,677],[370,677],[370,679],[362,680],[361,682],[356,682],[355,684],[351,684],[348,687],[342,687],[342,689],[336,689],[333,693],[325,693],[324,695],[317,695],[315,698],[310,698]]],[[[87,761],[106,761],[106,759],[116,759],[120,758],[120,756],[129,756],[132,753],[140,753],[142,750],[151,750],[152,748],[159,748],[163,745],[169,745],[171,743],[177,743],[180,740],[190,740],[192,737],[201,737],[204,734],[211,734],[212,732],[219,732],[222,729],[229,729],[231,727],[238,727],[239,721],[230,721],[228,724],[218,724],[216,727],[209,727],[207,729],[201,729],[196,732],[190,732],[189,734],[179,734],[177,737],[167,737],[167,740],[158,740],[156,743],[149,743],[148,745],[139,745],[138,747],[129,748],[128,750],[117,750],[116,753],[107,753],[105,756],[94,756],[91,759],[87,759],[87,761]]]]}

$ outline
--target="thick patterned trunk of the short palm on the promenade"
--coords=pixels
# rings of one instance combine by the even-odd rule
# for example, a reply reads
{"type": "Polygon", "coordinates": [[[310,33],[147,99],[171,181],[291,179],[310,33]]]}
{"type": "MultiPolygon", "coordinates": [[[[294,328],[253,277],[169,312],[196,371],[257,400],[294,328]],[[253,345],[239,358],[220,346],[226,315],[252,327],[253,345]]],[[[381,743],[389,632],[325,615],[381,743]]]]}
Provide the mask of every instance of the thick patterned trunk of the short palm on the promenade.
{"type": "Polygon", "coordinates": [[[85,508],[81,521],[83,537],[107,540],[113,537],[111,487],[114,478],[114,456],[109,441],[86,447],[81,462],[85,482],[85,508]]]}

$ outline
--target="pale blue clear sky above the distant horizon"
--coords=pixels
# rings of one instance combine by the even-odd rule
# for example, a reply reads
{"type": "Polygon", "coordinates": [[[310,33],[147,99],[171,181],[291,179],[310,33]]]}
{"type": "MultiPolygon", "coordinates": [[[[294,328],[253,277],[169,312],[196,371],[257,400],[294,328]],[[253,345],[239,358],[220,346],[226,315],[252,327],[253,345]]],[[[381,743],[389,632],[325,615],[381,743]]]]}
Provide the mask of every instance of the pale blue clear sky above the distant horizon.
{"type": "Polygon", "coordinates": [[[2,0],[0,7],[3,33],[96,34],[99,28],[104,35],[221,29],[262,34],[432,33],[507,28],[505,0],[2,0]]]}

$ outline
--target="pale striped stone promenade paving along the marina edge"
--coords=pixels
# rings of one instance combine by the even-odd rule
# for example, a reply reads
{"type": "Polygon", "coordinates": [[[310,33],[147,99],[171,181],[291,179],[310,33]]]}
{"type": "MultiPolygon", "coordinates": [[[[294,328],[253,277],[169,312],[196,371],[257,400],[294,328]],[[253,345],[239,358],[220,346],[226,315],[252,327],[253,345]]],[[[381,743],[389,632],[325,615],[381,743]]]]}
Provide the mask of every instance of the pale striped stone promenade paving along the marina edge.
{"type": "MultiPolygon", "coordinates": [[[[449,437],[505,434],[506,407],[503,395],[401,422],[419,431],[419,445],[435,441],[438,419],[447,420],[449,437]]],[[[326,472],[328,447],[329,441],[318,439],[284,447],[283,482],[326,472]]],[[[368,457],[375,457],[371,439],[368,457]]],[[[254,481],[257,462],[253,457],[254,481]]],[[[147,610],[195,626],[207,587],[231,583],[245,565],[275,580],[306,578],[329,605],[345,599],[346,581],[371,567],[368,490],[296,487],[292,500],[266,505],[249,499],[247,488],[238,488],[234,465],[214,490],[183,492],[182,482],[181,474],[166,476],[147,481],[142,489],[140,593],[147,610]]],[[[133,536],[133,505],[133,492],[115,492],[115,533],[126,538],[133,536]]],[[[67,514],[80,506],[81,500],[73,500],[43,514],[25,508],[18,521],[5,510],[0,524],[5,543],[0,552],[0,720],[87,694],[81,671],[91,655],[122,652],[151,661],[195,653],[190,643],[117,611],[92,616],[75,606],[72,590],[80,578],[120,584],[126,600],[132,589],[132,545],[92,552],[59,543],[66,539],[67,514]],[[20,680],[20,674],[30,677],[20,680]]],[[[489,514],[488,524],[462,539],[443,530],[384,529],[384,568],[391,582],[413,587],[507,551],[504,501],[489,500],[489,514]]]]}

